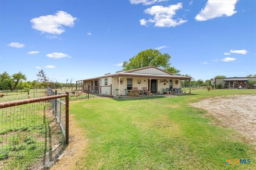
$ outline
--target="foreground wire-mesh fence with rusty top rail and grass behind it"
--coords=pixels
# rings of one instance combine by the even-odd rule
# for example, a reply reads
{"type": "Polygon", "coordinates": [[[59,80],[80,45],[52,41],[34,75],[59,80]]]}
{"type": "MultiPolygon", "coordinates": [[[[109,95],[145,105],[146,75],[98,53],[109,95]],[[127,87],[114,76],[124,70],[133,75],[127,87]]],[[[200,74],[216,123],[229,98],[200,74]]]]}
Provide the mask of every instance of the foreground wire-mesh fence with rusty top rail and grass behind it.
{"type": "Polygon", "coordinates": [[[69,95],[0,103],[0,169],[39,169],[68,145],[69,95]]]}

